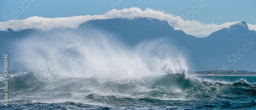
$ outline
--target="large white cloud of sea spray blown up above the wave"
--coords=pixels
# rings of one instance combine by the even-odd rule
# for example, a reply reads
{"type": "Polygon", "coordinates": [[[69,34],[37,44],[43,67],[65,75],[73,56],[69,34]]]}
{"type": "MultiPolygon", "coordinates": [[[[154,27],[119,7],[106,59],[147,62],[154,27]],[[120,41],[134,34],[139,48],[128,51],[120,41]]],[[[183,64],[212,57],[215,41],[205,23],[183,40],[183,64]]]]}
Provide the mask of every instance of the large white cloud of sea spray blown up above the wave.
{"type": "Polygon", "coordinates": [[[19,62],[40,76],[140,78],[187,70],[181,51],[166,39],[131,46],[114,34],[52,32],[31,35],[17,45],[19,62]]]}

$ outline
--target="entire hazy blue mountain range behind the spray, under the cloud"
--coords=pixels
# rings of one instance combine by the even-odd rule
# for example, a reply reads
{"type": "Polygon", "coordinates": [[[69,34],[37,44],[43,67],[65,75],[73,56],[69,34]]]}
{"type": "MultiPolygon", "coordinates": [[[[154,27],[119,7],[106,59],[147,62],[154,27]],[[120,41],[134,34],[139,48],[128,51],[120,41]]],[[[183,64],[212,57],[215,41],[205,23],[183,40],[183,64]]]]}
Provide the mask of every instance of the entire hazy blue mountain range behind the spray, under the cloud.
{"type": "MultiPolygon", "coordinates": [[[[256,71],[256,32],[250,31],[245,21],[231,25],[210,34],[205,38],[197,38],[185,34],[181,30],[174,30],[166,21],[149,18],[136,19],[102,19],[83,23],[77,30],[65,29],[73,33],[97,28],[114,33],[120,42],[135,46],[144,40],[167,38],[186,51],[189,64],[193,70],[235,69],[256,71]]],[[[10,53],[14,56],[15,43],[25,39],[28,35],[46,34],[49,32],[36,30],[22,30],[14,32],[11,29],[0,31],[1,54],[10,53]]],[[[19,68],[20,63],[12,61],[12,69],[19,68]]],[[[2,66],[1,66],[2,68],[2,66]]]]}

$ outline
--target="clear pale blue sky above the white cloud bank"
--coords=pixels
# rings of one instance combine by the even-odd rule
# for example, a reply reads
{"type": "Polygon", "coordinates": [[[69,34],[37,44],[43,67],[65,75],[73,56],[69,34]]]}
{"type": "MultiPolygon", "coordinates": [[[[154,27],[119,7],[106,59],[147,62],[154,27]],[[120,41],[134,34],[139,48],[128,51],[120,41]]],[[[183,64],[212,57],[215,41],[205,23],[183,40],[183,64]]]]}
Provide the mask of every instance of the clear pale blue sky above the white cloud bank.
{"type": "MultiPolygon", "coordinates": [[[[24,8],[25,10],[23,11],[22,7],[24,6],[20,2],[24,1],[29,0],[0,0],[0,22],[5,21],[5,17],[12,19],[11,14],[13,13],[13,10],[17,11],[17,9],[20,10],[19,16],[16,17],[17,19],[25,19],[30,16],[55,18],[71,17],[77,15],[95,15],[104,14],[112,10],[112,8],[121,10],[123,8],[131,7],[138,7],[141,9],[152,8],[155,10],[163,10],[166,13],[170,13],[176,16],[181,16],[182,14],[186,16],[189,11],[193,11],[190,6],[193,7],[199,5],[199,0],[31,0],[30,6],[28,8],[24,8]],[[113,5],[111,6],[110,3],[113,5]]],[[[205,7],[200,7],[199,13],[194,13],[195,15],[191,19],[198,20],[202,23],[222,24],[224,22],[246,21],[250,24],[256,24],[256,1],[205,0],[205,4],[205,7]]]]}

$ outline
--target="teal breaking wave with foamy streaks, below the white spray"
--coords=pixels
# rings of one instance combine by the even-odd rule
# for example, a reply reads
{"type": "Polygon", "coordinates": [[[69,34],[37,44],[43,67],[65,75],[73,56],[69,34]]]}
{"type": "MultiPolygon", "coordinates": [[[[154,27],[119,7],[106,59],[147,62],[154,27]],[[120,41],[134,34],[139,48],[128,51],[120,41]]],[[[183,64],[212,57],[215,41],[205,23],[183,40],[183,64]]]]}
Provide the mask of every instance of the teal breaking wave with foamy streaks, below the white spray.
{"type": "MultiPolygon", "coordinates": [[[[1,84],[2,87],[4,87],[3,84],[1,84]]],[[[40,98],[45,97],[48,100],[71,98],[92,102],[118,100],[118,98],[122,100],[130,100],[130,98],[141,100],[144,98],[215,100],[218,98],[219,100],[256,95],[256,87],[243,79],[227,83],[187,76],[185,73],[101,82],[97,77],[65,77],[56,80],[39,80],[33,72],[18,71],[10,76],[8,86],[10,94],[15,93],[14,96],[20,97],[20,99],[38,97],[39,95],[40,98]],[[30,94],[31,96],[25,96],[24,94],[30,94]]],[[[44,98],[40,100],[44,100],[44,98]]]]}

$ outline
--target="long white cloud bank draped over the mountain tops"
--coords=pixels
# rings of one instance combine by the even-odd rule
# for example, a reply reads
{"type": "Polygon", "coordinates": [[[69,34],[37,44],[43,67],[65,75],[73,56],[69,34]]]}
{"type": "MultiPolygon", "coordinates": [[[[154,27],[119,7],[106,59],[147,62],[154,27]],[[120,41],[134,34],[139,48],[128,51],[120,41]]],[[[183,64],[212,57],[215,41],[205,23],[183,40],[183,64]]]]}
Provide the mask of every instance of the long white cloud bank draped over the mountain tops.
{"type": "MultiPolygon", "coordinates": [[[[54,28],[71,28],[77,29],[81,23],[95,19],[111,19],[111,18],[155,18],[159,20],[168,21],[169,25],[173,26],[176,30],[182,30],[186,34],[194,36],[208,36],[212,32],[218,31],[222,28],[228,28],[230,25],[237,22],[226,22],[223,24],[204,24],[197,20],[184,20],[181,16],[175,16],[164,11],[158,11],[151,8],[141,10],[140,8],[132,7],[129,9],[116,10],[113,9],[101,15],[86,15],[86,16],[73,16],[73,17],[58,17],[58,18],[44,18],[38,16],[28,17],[23,20],[9,20],[0,22],[0,30],[4,31],[11,28],[14,31],[25,29],[36,29],[41,31],[49,31],[54,28]]],[[[248,24],[250,30],[255,30],[256,25],[248,24]]]]}

